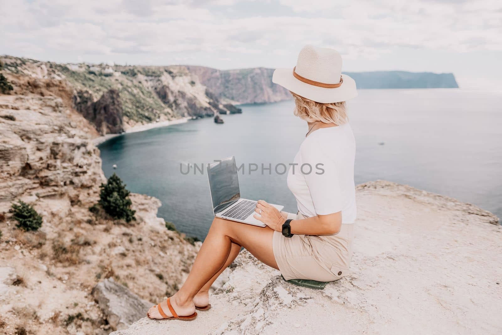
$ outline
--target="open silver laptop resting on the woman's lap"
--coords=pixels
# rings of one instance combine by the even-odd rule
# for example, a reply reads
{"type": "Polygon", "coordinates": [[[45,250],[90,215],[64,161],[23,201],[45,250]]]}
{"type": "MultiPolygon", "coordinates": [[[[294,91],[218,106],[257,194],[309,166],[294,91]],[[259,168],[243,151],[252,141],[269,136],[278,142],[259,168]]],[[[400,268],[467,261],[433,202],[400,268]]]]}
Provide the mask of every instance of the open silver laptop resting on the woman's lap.
{"type": "MultiPolygon", "coordinates": [[[[243,224],[267,227],[262,221],[253,217],[256,213],[257,201],[240,197],[234,156],[206,164],[206,169],[214,216],[243,224]]],[[[279,210],[284,208],[280,205],[273,206],[279,210]]]]}

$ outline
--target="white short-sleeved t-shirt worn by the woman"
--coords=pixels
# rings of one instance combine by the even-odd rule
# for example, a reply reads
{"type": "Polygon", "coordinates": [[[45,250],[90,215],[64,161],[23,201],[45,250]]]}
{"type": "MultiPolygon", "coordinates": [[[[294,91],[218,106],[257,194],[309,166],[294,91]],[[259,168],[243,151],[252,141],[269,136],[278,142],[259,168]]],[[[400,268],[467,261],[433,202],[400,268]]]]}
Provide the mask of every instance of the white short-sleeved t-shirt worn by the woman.
{"type": "Polygon", "coordinates": [[[341,210],[342,224],[355,221],[355,139],[350,125],[320,128],[303,141],[288,171],[288,187],[305,216],[341,210]]]}

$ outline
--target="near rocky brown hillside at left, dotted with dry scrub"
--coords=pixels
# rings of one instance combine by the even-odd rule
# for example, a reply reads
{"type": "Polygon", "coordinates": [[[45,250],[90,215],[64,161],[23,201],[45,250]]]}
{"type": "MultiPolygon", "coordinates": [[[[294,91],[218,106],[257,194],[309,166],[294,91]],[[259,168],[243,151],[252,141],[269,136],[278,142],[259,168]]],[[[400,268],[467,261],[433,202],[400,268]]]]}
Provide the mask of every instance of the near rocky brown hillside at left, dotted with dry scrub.
{"type": "MultiPolygon", "coordinates": [[[[0,94],[0,333],[126,327],[140,316],[117,316],[109,292],[93,288],[113,280],[141,301],[159,301],[176,292],[198,247],[166,229],[160,201],[147,195],[131,195],[131,224],[92,214],[105,178],[96,130],[72,108],[72,90],[56,78],[10,78],[14,94],[0,94]],[[42,215],[39,231],[16,228],[9,209],[17,199],[42,215]]],[[[105,112],[113,95],[92,110],[105,112]]]]}

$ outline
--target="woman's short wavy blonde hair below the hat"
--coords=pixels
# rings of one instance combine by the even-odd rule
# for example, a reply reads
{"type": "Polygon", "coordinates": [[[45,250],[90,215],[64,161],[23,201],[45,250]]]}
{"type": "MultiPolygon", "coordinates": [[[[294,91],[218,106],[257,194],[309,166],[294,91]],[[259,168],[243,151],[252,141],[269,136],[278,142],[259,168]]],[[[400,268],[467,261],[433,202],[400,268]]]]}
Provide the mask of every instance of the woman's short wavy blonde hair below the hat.
{"type": "Polygon", "coordinates": [[[320,103],[293,92],[291,94],[295,99],[295,116],[304,121],[320,121],[322,123],[333,123],[337,126],[348,122],[345,101],[320,103]]]}

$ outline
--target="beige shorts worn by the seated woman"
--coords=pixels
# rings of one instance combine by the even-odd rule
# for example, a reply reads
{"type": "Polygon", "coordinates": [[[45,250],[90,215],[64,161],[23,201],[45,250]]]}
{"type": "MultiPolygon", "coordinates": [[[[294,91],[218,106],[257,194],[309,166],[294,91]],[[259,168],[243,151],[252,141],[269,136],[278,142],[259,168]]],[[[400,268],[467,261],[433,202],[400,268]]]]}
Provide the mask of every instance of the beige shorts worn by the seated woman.
{"type": "MultiPolygon", "coordinates": [[[[288,218],[305,218],[288,213],[288,218]]],[[[334,235],[293,235],[274,232],[274,257],[284,279],[334,281],[348,274],[352,258],[353,224],[343,224],[334,235]]]]}

